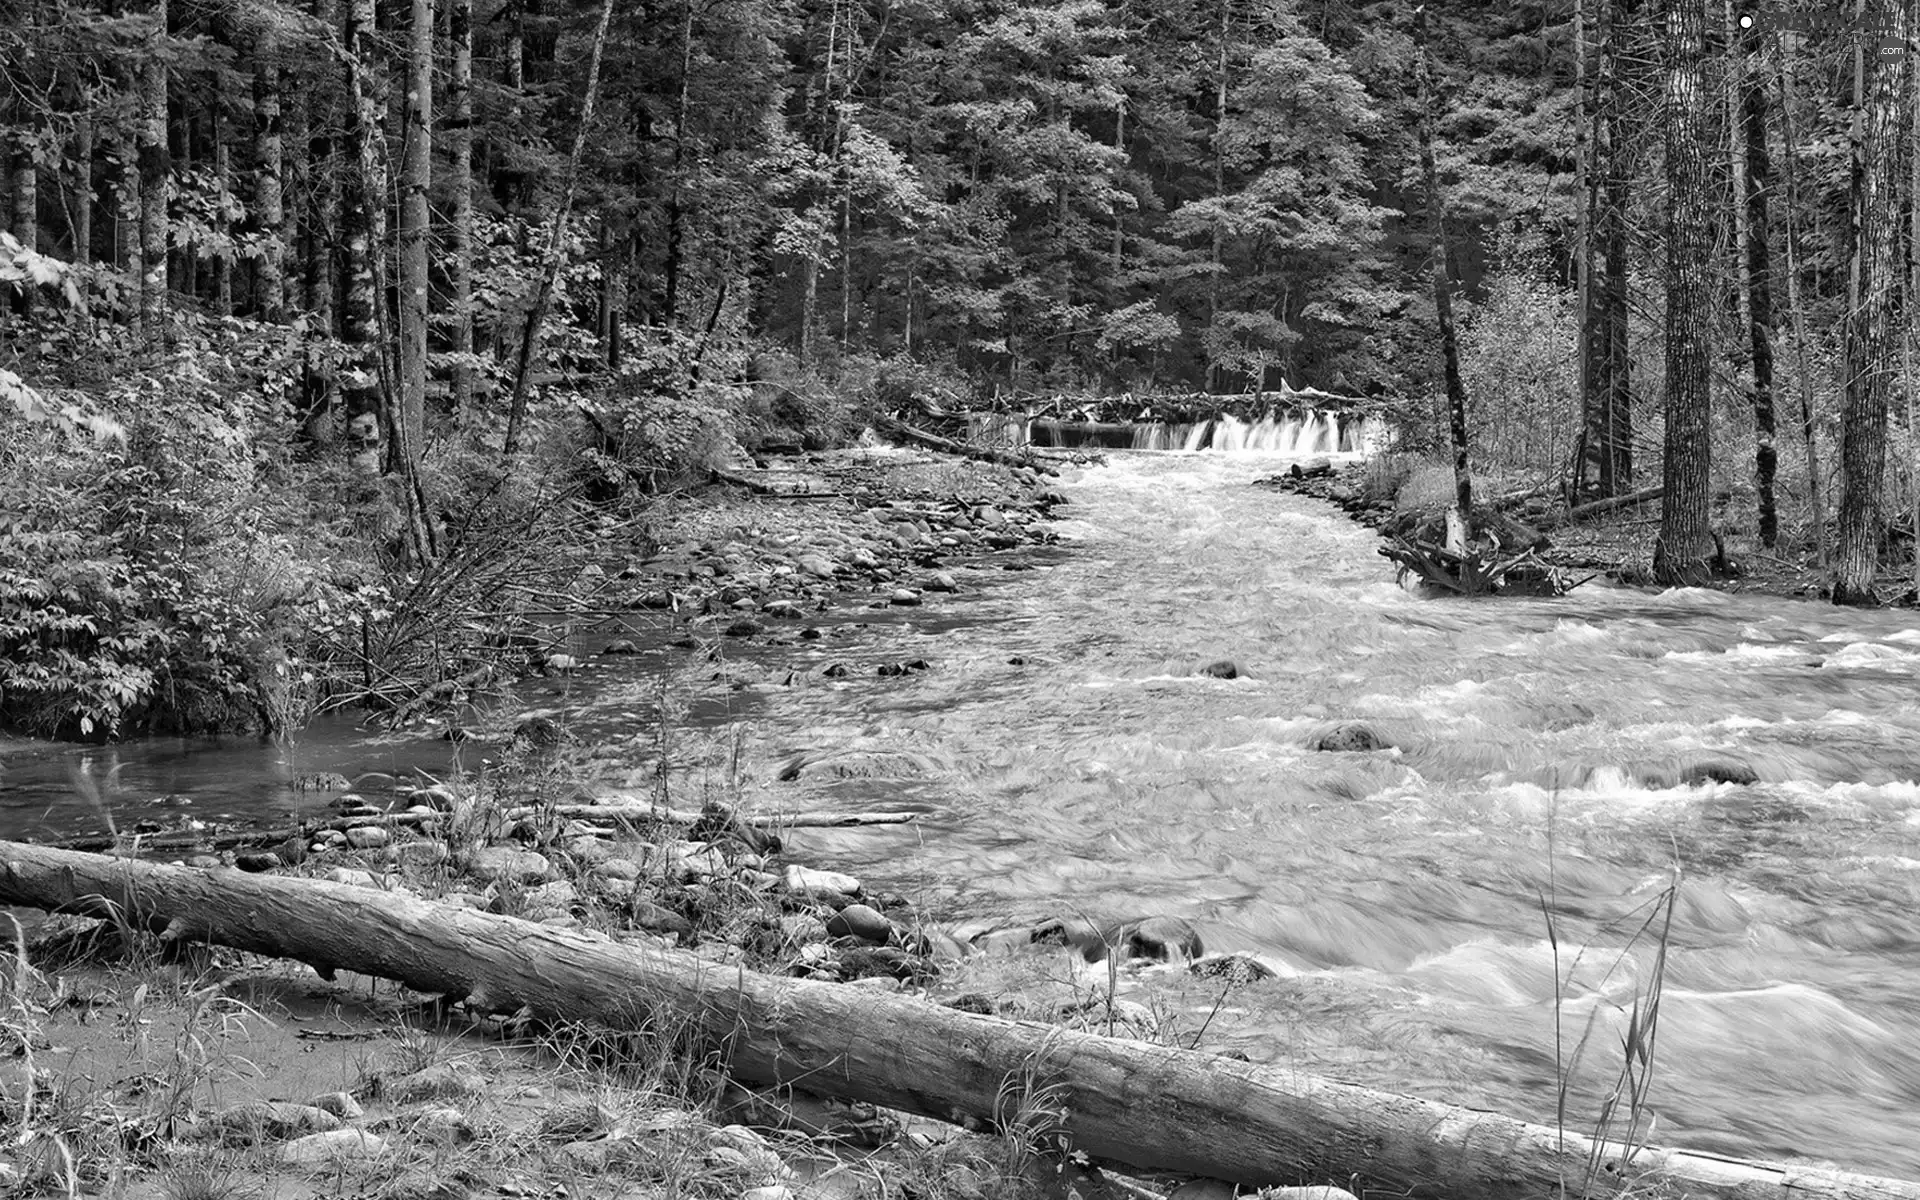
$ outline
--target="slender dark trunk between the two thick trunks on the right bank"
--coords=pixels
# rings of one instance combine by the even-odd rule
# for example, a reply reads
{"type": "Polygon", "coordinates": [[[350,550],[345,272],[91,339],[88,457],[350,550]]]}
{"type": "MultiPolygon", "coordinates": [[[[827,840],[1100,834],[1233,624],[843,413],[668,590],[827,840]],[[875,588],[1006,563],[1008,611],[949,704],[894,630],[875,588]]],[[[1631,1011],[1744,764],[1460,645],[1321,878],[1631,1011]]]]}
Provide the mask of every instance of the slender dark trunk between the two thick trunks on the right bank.
{"type": "Polygon", "coordinates": [[[1766,54],[1759,21],[1740,36],[1745,79],[1740,92],[1741,132],[1745,136],[1747,219],[1747,332],[1753,349],[1753,488],[1759,493],[1761,545],[1780,541],[1780,511],[1774,503],[1774,280],[1768,248],[1766,207],[1774,186],[1774,165],[1766,156],[1766,54]]]}

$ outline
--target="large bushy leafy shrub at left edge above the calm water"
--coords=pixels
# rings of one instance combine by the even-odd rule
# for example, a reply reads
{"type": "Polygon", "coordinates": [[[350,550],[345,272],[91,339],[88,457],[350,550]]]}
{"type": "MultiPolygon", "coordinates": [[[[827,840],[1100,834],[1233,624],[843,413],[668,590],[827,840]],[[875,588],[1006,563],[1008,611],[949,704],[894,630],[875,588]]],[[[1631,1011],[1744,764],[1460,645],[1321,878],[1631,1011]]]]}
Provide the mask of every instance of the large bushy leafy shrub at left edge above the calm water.
{"type": "Polygon", "coordinates": [[[298,720],[319,586],[205,411],[81,442],[0,415],[0,720],[35,733],[298,720]]]}

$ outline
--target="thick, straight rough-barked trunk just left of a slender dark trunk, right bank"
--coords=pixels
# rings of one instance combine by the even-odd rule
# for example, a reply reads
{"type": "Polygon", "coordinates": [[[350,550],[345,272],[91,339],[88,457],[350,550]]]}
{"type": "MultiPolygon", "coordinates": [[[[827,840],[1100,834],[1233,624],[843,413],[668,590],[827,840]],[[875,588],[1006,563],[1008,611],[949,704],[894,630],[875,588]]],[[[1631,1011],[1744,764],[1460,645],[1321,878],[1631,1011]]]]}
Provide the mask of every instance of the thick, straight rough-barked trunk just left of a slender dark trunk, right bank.
{"type": "Polygon", "coordinates": [[[1713,240],[1707,232],[1705,13],[1697,0],[1665,0],[1663,48],[1667,73],[1667,445],[1661,534],[1653,543],[1653,576],[1661,584],[1697,588],[1713,576],[1709,524],[1707,426],[1713,394],[1709,313],[1715,294],[1701,265],[1713,240]]]}

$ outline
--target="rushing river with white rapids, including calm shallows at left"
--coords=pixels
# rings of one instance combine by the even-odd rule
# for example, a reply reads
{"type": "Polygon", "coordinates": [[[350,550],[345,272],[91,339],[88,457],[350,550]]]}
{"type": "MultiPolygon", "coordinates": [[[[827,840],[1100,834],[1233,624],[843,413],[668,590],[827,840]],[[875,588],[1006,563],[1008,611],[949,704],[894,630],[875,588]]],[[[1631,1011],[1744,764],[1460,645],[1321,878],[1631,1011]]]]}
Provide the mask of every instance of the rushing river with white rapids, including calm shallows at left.
{"type": "MultiPolygon", "coordinates": [[[[724,728],[762,804],[925,808],[806,833],[806,856],[954,920],[1171,914],[1210,950],[1261,956],[1283,977],[1238,993],[1223,1033],[1256,1060],[1551,1123],[1590,1031],[1580,1131],[1651,981],[1649,943],[1622,947],[1678,879],[1653,1140],[1920,1179],[1912,616],[1597,584],[1419,599],[1373,534],[1250,486],[1277,467],[1114,455],[1062,484],[1075,503],[1044,570],[989,563],[943,605],[735,651],[747,678],[755,657],[852,670],[749,682],[689,737],[724,728]],[[914,657],[933,668],[874,674],[914,657]],[[1215,659],[1242,678],[1194,674],[1215,659]],[[1354,720],[1394,749],[1309,749],[1354,720]],[[1757,781],[1707,778],[1732,768],[1757,781]]],[[[524,697],[572,714],[634,785],[662,697],[714,670],[647,645],[524,697]]],[[[84,758],[96,778],[115,758],[125,795],[278,814],[290,770],[447,756],[344,726],[40,755],[6,762],[0,810],[13,831],[79,822],[65,772],[84,758]]]]}

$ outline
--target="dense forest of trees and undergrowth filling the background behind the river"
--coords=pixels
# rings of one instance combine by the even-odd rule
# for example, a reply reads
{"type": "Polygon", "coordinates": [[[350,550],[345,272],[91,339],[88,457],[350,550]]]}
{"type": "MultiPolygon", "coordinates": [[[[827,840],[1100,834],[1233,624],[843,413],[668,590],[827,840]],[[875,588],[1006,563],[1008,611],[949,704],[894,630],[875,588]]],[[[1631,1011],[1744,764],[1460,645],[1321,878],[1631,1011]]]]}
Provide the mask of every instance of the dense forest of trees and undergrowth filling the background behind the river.
{"type": "Polygon", "coordinates": [[[860,405],[1309,384],[1665,488],[1667,582],[1912,541],[1908,0],[0,8],[29,728],[378,691],[513,528],[860,405]]]}

